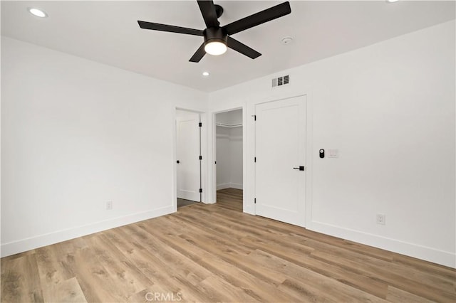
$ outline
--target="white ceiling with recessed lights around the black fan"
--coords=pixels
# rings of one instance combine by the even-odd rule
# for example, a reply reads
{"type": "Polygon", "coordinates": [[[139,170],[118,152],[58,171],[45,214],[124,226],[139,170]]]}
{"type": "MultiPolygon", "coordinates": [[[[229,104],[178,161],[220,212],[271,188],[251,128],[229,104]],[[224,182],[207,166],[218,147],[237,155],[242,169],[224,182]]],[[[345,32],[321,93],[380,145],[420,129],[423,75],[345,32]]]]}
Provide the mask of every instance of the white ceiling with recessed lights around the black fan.
{"type": "MultiPolygon", "coordinates": [[[[221,26],[282,1],[215,1],[221,26]]],[[[148,31],[137,21],[204,29],[196,1],[1,1],[1,34],[211,92],[455,18],[455,1],[291,1],[291,14],[233,38],[258,50],[188,60],[202,37],[148,31]],[[29,6],[48,18],[31,16],[29,6]],[[281,38],[294,41],[282,45],[281,38]],[[202,77],[202,71],[211,75],[202,77]]]]}

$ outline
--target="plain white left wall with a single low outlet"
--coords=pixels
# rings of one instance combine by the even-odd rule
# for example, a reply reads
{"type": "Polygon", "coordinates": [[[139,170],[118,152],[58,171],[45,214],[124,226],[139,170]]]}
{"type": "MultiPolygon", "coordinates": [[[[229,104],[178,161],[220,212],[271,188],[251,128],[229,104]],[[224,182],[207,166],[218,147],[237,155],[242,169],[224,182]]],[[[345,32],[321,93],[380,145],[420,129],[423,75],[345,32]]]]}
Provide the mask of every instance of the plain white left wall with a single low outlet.
{"type": "Polygon", "coordinates": [[[2,256],[175,211],[176,107],[207,94],[2,37],[2,256]]]}

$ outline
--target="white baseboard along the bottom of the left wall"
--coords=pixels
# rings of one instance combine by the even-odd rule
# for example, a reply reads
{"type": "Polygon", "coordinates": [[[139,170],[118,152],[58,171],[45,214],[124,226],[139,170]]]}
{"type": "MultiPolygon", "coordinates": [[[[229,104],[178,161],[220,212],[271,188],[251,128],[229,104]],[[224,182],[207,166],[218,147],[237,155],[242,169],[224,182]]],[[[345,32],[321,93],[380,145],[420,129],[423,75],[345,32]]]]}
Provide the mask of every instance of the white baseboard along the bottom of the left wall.
{"type": "Polygon", "coordinates": [[[14,255],[19,252],[25,252],[27,250],[41,248],[46,245],[71,240],[74,238],[82,237],[83,235],[98,233],[100,231],[108,230],[110,228],[116,228],[119,226],[136,223],[150,218],[156,218],[173,212],[174,211],[172,209],[172,206],[166,206],[163,208],[154,209],[152,211],[145,211],[143,213],[133,213],[132,215],[128,216],[103,220],[88,225],[78,226],[76,228],[68,228],[66,230],[59,230],[53,233],[37,235],[36,237],[32,238],[26,238],[10,243],[4,243],[1,244],[1,257],[6,257],[9,255],[14,255]]]}

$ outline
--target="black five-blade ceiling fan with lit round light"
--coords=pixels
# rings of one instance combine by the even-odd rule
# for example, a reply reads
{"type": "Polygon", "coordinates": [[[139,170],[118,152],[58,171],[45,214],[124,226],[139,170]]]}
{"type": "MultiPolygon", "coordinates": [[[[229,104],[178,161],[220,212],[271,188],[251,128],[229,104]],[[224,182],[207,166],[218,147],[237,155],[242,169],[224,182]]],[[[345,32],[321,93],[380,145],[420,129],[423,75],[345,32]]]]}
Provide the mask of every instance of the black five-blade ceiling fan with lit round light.
{"type": "Polygon", "coordinates": [[[254,59],[259,57],[261,53],[237,41],[232,38],[231,35],[291,13],[290,3],[287,1],[221,27],[217,19],[223,14],[222,6],[214,4],[214,1],[212,0],[198,0],[197,2],[204,23],[206,23],[207,26],[203,31],[194,28],[171,26],[146,21],[138,21],[138,24],[140,25],[140,28],[152,29],[154,31],[169,31],[171,33],[203,36],[204,43],[199,46],[196,53],[190,58],[190,62],[199,62],[206,53],[209,53],[210,55],[222,55],[227,51],[227,47],[254,59]]]}

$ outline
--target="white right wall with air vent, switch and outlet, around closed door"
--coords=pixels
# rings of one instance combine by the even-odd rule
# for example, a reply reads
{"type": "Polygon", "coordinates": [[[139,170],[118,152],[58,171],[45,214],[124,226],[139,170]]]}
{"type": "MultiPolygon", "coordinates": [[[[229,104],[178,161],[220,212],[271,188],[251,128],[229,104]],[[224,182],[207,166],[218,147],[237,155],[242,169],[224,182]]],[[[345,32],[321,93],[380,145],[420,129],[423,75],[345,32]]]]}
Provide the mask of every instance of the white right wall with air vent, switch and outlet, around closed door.
{"type": "Polygon", "coordinates": [[[244,109],[253,159],[254,105],[296,95],[308,100],[307,228],[455,267],[455,21],[213,92],[209,110],[244,109]],[[291,85],[272,90],[286,74],[291,85]],[[319,159],[321,148],[340,156],[319,159]]]}

